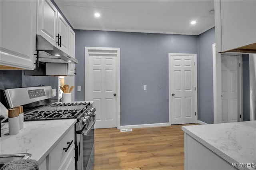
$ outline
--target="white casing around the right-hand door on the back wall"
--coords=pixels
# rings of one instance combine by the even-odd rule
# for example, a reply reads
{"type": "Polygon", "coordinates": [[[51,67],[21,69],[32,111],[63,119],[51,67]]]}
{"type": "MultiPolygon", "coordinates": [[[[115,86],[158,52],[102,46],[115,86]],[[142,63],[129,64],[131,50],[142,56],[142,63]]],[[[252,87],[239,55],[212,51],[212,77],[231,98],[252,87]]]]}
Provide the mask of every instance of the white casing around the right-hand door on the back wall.
{"type": "Polygon", "coordinates": [[[168,76],[169,76],[169,78],[168,78],[168,86],[169,86],[169,94],[168,94],[168,96],[169,96],[169,124],[171,125],[171,114],[172,114],[172,111],[171,111],[171,97],[172,97],[172,95],[171,95],[171,59],[170,59],[170,57],[171,57],[171,55],[180,55],[180,56],[184,56],[184,55],[187,55],[187,56],[194,56],[194,62],[195,62],[195,69],[194,69],[194,71],[195,71],[195,87],[196,87],[196,90],[194,91],[194,93],[195,93],[195,112],[196,112],[196,116],[195,116],[195,123],[198,123],[198,112],[197,112],[197,54],[193,54],[193,53],[168,53],[168,76]]]}

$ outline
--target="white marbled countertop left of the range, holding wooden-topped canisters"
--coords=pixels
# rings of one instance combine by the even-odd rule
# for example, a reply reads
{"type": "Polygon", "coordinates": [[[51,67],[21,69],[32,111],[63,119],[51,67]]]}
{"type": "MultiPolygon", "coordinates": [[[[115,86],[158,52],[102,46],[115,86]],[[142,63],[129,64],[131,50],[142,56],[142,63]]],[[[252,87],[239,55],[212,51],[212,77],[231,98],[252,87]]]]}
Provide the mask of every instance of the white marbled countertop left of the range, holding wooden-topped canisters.
{"type": "Polygon", "coordinates": [[[30,159],[42,163],[76,123],[76,119],[26,121],[20,133],[9,135],[7,125],[2,127],[0,138],[0,154],[30,153],[30,159]]]}

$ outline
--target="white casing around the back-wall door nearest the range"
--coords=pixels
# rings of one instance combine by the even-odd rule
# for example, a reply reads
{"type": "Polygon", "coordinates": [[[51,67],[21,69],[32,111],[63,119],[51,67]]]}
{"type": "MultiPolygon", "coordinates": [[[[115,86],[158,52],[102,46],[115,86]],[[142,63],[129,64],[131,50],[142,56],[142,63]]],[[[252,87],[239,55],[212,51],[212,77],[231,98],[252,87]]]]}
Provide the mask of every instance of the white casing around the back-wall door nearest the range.
{"type": "Polygon", "coordinates": [[[116,56],[116,125],[117,128],[120,129],[120,48],[114,48],[114,47],[84,47],[84,99],[86,101],[87,99],[87,94],[88,94],[88,73],[89,73],[89,65],[88,65],[88,50],[89,49],[94,49],[94,50],[117,50],[117,56],[116,56]]]}

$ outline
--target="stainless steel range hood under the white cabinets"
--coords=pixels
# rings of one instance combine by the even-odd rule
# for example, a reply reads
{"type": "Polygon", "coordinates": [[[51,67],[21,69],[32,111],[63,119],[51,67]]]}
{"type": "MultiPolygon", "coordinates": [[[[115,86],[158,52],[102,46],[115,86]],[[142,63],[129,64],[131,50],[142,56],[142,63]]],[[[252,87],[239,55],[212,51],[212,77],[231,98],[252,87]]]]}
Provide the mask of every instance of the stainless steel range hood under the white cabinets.
{"type": "Polygon", "coordinates": [[[36,35],[36,51],[38,60],[43,63],[78,63],[77,59],[58,49],[45,38],[36,35]]]}

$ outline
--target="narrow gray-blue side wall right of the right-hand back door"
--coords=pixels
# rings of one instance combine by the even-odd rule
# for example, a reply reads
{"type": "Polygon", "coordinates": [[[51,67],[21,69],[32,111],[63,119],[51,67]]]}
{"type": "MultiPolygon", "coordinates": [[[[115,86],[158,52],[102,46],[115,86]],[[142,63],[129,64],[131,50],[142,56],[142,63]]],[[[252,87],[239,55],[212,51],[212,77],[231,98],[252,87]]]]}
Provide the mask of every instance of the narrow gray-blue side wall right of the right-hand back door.
{"type": "Polygon", "coordinates": [[[212,44],[215,28],[198,36],[198,120],[213,123],[212,44]]]}

